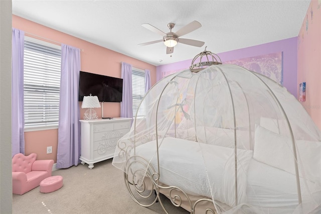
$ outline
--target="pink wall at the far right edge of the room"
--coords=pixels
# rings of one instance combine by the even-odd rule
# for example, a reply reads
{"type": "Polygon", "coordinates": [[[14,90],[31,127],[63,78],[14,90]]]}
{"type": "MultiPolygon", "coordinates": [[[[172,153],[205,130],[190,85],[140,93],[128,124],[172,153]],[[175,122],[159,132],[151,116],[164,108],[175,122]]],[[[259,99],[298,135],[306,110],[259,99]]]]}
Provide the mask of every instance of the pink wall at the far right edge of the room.
{"type": "Polygon", "coordinates": [[[311,1],[303,20],[298,35],[297,67],[297,86],[306,82],[305,101],[301,104],[321,129],[321,1],[311,1]]]}

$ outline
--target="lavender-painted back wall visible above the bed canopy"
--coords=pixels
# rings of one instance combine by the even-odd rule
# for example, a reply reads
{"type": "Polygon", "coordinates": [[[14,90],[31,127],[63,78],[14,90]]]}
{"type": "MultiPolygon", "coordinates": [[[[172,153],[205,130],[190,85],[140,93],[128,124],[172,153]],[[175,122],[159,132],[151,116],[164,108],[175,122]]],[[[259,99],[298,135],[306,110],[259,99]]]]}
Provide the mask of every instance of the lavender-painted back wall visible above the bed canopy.
{"type": "MultiPolygon", "coordinates": [[[[214,52],[214,50],[209,51],[214,52]]],[[[283,52],[283,86],[297,97],[297,37],[216,54],[224,62],[281,51],[283,52]]],[[[185,70],[191,63],[192,59],[157,66],[157,81],[162,78],[162,72],[185,70]]]]}

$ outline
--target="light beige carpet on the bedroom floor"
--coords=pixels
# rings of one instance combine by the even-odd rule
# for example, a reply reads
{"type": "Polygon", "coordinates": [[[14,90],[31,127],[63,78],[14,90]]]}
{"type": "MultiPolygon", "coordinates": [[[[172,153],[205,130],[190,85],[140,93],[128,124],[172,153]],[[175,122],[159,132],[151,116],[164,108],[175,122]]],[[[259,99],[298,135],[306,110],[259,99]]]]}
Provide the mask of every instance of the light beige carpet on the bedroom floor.
{"type": "MultiPolygon", "coordinates": [[[[135,203],[125,187],[122,171],[111,162],[96,163],[91,170],[87,164],[79,164],[53,171],[53,176],[63,177],[63,187],[50,193],[41,193],[37,187],[23,195],[13,194],[13,213],[165,213],[159,203],[150,207],[135,203]]],[[[165,196],[162,201],[169,213],[190,213],[175,207],[165,196]]]]}

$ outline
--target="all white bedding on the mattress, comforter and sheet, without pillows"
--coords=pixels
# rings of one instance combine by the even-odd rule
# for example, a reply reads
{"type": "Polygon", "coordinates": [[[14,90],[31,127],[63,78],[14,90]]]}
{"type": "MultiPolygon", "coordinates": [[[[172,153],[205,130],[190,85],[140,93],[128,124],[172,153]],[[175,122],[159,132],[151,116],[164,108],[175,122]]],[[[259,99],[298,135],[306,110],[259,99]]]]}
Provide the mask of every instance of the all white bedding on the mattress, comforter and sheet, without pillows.
{"type": "MultiPolygon", "coordinates": [[[[171,137],[158,143],[160,182],[180,187],[188,194],[235,205],[235,186],[231,185],[235,183],[234,149],[171,137]],[[206,166],[204,158],[212,158],[211,162],[206,162],[213,164],[206,166]]],[[[297,205],[295,176],[254,160],[250,150],[237,150],[237,153],[238,164],[242,166],[238,169],[238,204],[260,204],[264,207],[297,205]],[[287,195],[286,200],[284,195],[287,195]]],[[[136,147],[136,155],[151,160],[151,165],[157,170],[155,141],[136,147]]]]}

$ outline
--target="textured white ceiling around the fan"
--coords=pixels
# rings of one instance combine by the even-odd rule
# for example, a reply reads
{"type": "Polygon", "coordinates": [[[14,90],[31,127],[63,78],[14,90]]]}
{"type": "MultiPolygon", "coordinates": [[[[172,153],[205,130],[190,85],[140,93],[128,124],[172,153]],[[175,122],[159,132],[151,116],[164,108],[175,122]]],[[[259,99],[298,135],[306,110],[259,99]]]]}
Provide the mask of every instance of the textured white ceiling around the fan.
{"type": "Polygon", "coordinates": [[[298,36],[310,0],[269,1],[52,1],[12,0],[13,14],[127,56],[162,65],[193,59],[207,50],[222,53],[298,36]],[[202,27],[182,38],[204,41],[201,48],[138,44],[162,39],[141,26],[173,32],[198,21],[202,27]],[[162,62],[158,62],[163,60],[162,62]]]}

